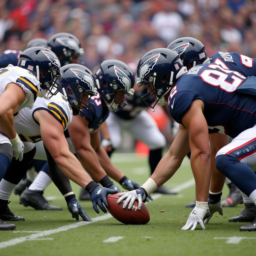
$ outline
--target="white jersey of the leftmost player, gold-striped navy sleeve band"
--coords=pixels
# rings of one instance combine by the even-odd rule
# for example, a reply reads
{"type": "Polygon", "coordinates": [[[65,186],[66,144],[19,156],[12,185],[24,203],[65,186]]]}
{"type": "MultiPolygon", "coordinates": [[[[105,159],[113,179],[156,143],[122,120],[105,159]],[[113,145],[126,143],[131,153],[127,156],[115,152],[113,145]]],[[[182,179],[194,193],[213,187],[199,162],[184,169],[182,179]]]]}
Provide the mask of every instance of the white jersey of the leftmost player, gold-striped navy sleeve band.
{"type": "Polygon", "coordinates": [[[26,93],[25,101],[18,107],[21,110],[25,107],[32,108],[40,90],[40,83],[36,77],[27,69],[13,65],[0,69],[0,95],[5,91],[9,83],[16,83],[26,93]]]}

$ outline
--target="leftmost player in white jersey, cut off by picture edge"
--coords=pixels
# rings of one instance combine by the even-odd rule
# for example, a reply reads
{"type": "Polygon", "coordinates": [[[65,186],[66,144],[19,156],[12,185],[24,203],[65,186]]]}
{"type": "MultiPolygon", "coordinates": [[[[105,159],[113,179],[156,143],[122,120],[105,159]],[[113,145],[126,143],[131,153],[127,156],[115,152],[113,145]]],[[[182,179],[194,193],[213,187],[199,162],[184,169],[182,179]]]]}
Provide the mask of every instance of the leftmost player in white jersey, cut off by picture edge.
{"type": "MultiPolygon", "coordinates": [[[[14,156],[23,158],[23,142],[14,128],[14,116],[25,107],[32,108],[37,97],[49,97],[60,89],[56,79],[60,76],[57,56],[43,47],[25,50],[19,56],[18,66],[0,69],[0,180],[14,156]]],[[[14,229],[14,224],[0,220],[0,229],[14,229]]]]}

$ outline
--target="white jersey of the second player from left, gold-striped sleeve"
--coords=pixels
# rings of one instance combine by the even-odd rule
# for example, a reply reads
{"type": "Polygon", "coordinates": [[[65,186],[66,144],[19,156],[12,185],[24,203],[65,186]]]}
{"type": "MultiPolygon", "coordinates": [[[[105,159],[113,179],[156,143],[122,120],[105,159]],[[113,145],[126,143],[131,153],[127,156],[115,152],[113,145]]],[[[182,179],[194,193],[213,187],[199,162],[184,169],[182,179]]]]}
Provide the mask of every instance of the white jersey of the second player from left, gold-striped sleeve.
{"type": "Polygon", "coordinates": [[[24,142],[38,142],[41,140],[40,126],[34,119],[34,112],[45,109],[53,115],[63,126],[64,131],[72,121],[72,109],[65,97],[58,92],[50,99],[37,98],[32,109],[23,108],[14,114],[14,128],[24,142]]]}

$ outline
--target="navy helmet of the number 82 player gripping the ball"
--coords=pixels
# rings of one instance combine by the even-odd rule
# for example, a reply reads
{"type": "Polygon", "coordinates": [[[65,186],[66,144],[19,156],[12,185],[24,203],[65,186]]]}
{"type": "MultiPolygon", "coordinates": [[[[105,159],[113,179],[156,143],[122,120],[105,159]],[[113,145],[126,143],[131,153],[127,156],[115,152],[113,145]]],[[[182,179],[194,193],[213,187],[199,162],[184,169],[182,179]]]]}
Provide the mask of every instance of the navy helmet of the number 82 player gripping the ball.
{"type": "Polygon", "coordinates": [[[137,66],[137,85],[148,86],[150,91],[142,96],[142,100],[152,108],[156,104],[166,104],[164,96],[170,91],[173,83],[187,72],[179,54],[167,48],[157,48],[147,52],[137,66]],[[153,106],[147,103],[152,95],[156,102],[153,106]]]}

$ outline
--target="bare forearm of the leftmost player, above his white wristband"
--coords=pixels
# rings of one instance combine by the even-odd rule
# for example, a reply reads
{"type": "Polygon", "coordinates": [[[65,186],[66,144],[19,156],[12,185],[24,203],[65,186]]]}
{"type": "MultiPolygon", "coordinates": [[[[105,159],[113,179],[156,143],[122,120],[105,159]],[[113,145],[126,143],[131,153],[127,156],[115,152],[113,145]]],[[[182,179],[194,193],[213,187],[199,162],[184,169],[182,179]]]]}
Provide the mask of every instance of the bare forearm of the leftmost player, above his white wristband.
{"type": "Polygon", "coordinates": [[[0,110],[0,132],[9,139],[14,139],[16,137],[12,110],[6,112],[0,110]]]}

